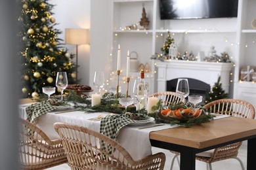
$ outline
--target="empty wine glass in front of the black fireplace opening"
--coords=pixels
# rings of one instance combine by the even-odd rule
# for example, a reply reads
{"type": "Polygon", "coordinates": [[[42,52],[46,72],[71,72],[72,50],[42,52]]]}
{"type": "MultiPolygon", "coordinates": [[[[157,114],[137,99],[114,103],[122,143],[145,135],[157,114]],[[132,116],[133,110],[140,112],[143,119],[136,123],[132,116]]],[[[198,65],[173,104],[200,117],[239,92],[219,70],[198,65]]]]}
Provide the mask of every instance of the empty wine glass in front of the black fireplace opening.
{"type": "Polygon", "coordinates": [[[181,101],[189,95],[189,86],[187,78],[179,78],[176,87],[176,93],[181,98],[181,101]]]}

